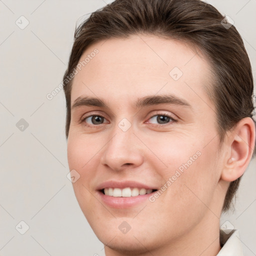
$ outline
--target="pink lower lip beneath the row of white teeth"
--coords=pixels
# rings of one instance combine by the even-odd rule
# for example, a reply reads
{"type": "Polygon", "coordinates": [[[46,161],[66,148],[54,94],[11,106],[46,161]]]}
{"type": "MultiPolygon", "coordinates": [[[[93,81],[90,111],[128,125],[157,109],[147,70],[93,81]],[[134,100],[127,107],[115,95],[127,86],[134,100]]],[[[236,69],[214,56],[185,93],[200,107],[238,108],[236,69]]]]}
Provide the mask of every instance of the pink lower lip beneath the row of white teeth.
{"type": "Polygon", "coordinates": [[[114,197],[105,195],[101,191],[97,191],[100,199],[108,206],[118,209],[129,208],[148,199],[153,193],[130,196],[130,197],[114,197]]]}

